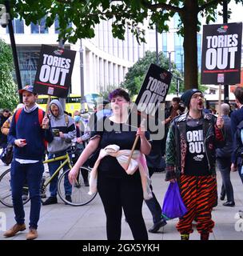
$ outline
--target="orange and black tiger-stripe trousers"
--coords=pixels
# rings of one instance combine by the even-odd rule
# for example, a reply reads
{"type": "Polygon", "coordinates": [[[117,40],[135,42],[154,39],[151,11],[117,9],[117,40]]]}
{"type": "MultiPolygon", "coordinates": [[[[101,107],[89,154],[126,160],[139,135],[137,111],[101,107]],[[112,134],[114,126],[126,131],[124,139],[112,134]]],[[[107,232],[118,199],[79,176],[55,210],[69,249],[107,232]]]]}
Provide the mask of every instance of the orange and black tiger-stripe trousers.
{"type": "Polygon", "coordinates": [[[187,176],[181,174],[181,198],[188,212],[179,219],[177,230],[180,234],[193,232],[192,222],[197,221],[198,233],[213,232],[211,212],[217,193],[216,178],[209,176],[187,176]]]}

